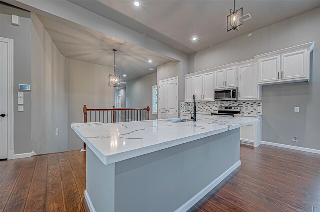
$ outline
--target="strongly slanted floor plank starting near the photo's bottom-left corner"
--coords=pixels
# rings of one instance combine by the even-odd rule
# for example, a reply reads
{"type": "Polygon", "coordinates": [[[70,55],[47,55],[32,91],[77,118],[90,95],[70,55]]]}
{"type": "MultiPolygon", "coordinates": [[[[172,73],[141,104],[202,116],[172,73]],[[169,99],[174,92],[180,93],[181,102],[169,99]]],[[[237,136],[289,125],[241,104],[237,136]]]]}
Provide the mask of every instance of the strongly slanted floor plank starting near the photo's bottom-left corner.
{"type": "Polygon", "coordinates": [[[23,166],[12,194],[4,208],[4,212],[23,212],[29,193],[37,157],[30,157],[23,166]]]}

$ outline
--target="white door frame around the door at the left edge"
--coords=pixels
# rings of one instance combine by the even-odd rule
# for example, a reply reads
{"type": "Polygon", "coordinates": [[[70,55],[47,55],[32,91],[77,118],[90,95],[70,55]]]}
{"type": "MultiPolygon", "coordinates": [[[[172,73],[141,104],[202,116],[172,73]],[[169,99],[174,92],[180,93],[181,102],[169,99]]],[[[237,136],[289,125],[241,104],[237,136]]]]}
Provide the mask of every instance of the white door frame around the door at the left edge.
{"type": "Polygon", "coordinates": [[[13,39],[0,37],[1,42],[8,45],[8,73],[7,73],[7,95],[8,95],[8,146],[7,159],[13,159],[13,39]]]}

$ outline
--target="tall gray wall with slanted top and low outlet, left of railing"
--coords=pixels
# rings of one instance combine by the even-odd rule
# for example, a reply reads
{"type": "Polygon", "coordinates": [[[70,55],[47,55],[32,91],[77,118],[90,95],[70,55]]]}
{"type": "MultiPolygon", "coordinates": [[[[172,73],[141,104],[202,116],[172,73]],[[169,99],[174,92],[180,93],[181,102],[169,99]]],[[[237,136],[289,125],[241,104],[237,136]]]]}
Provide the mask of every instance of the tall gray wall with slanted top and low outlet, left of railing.
{"type": "Polygon", "coordinates": [[[32,148],[37,154],[66,151],[66,58],[34,13],[31,20],[32,148]]]}

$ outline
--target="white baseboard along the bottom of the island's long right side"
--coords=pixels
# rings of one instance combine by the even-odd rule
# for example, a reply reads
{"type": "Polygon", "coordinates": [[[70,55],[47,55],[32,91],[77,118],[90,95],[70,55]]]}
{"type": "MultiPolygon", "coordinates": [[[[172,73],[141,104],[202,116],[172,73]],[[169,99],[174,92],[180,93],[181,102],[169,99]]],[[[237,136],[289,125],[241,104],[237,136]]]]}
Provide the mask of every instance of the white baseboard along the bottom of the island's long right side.
{"type": "Polygon", "coordinates": [[[204,187],[200,192],[194,195],[190,200],[180,206],[174,212],[186,212],[192,206],[194,206],[199,200],[201,200],[207,193],[209,193],[216,185],[218,185],[224,178],[226,178],[231,172],[233,172],[237,167],[241,165],[241,161],[233,164],[228,170],[222,173],[219,177],[217,177],[214,181],[212,181],[209,185],[204,187]]]}

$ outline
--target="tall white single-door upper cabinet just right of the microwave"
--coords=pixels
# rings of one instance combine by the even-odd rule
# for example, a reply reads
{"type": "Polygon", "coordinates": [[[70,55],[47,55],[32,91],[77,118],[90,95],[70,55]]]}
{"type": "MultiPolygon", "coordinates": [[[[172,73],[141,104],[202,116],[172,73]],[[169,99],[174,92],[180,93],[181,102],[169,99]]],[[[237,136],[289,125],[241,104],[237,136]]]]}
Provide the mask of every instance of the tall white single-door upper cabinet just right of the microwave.
{"type": "Polygon", "coordinates": [[[258,99],[256,64],[239,65],[238,68],[238,99],[258,99]]]}

